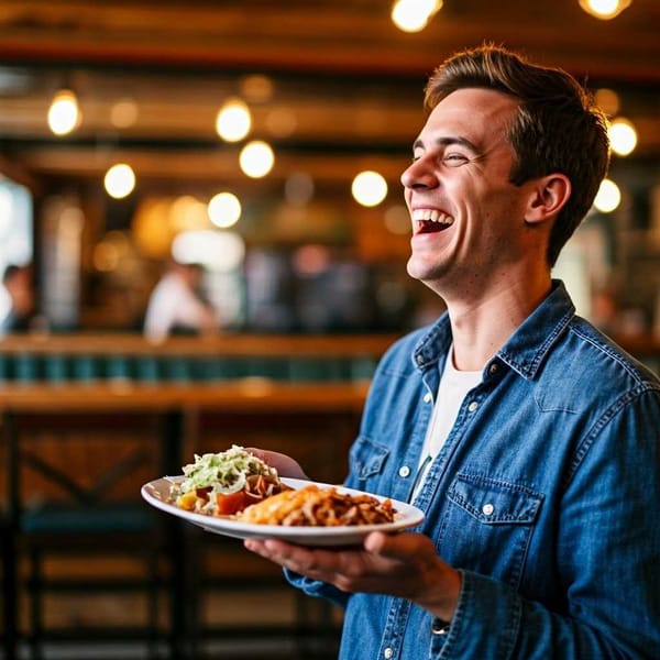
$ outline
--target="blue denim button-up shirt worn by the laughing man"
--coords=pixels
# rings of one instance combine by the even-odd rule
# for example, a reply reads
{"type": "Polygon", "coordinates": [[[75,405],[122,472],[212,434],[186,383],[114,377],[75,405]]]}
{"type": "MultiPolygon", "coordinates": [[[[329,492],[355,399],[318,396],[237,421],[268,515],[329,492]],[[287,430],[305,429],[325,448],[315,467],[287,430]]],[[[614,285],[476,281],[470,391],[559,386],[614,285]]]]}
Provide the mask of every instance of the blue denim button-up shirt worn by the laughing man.
{"type": "MultiPolygon", "coordinates": [[[[443,316],[385,354],[346,485],[410,497],[451,341],[443,316]]],[[[342,660],[660,658],[660,383],[561,283],[485,365],[415,504],[462,573],[448,634],[288,573],[345,607],[342,660]]]]}

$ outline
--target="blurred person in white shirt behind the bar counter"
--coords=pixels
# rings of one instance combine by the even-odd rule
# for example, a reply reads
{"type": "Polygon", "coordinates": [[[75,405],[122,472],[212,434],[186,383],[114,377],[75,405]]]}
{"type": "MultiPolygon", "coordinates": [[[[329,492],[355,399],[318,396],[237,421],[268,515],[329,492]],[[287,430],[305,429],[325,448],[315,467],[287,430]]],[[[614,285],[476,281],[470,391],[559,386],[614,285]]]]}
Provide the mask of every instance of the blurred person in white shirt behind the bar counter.
{"type": "Polygon", "coordinates": [[[173,334],[213,334],[219,330],[215,309],[201,294],[204,267],[172,261],[152,292],[144,334],[163,341],[173,334]]]}

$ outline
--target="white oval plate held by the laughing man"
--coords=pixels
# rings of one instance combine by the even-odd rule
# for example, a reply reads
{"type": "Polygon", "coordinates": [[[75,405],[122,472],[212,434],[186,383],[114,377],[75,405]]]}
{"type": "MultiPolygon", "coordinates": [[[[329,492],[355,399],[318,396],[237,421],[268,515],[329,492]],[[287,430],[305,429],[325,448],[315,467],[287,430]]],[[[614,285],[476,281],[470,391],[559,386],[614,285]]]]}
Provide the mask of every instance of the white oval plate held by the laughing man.
{"type": "MultiPolygon", "coordinates": [[[[183,479],[163,477],[152,481],[142,486],[142,497],[152,506],[178,516],[188,522],[202,527],[206,531],[220,534],[223,536],[234,537],[239,539],[283,539],[301,546],[355,546],[361,543],[362,539],[370,531],[392,532],[407,527],[418,525],[424,520],[424,513],[417,507],[392,499],[392,504],[396,509],[394,522],[385,522],[382,525],[360,525],[360,526],[342,526],[342,527],[286,527],[283,525],[255,525],[242,522],[230,517],[206,516],[204,514],[195,514],[170,504],[169,488],[174,481],[183,479]]],[[[299,479],[283,479],[282,480],[293,488],[301,488],[312,482],[299,479]]],[[[329,484],[317,484],[321,487],[329,487],[329,484]]],[[[336,486],[340,493],[350,493],[353,495],[363,494],[360,491],[336,486]]],[[[386,499],[380,495],[374,495],[378,499],[386,499]]]]}

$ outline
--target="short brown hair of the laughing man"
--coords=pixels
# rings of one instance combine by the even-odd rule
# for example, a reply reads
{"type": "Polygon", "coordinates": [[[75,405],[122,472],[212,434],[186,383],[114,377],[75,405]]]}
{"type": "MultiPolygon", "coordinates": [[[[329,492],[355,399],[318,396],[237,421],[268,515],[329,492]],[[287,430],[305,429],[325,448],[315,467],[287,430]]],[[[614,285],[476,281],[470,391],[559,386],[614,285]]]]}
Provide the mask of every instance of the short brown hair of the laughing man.
{"type": "Polygon", "coordinates": [[[474,87],[502,91],[520,101],[508,134],[516,154],[509,175],[513,184],[519,186],[553,172],[571,182],[571,197],[554,221],[548,244],[547,258],[552,266],[607,173],[606,118],[565,72],[530,64],[490,44],[457,53],[440,65],[426,87],[425,107],[431,110],[452,91],[474,87]]]}

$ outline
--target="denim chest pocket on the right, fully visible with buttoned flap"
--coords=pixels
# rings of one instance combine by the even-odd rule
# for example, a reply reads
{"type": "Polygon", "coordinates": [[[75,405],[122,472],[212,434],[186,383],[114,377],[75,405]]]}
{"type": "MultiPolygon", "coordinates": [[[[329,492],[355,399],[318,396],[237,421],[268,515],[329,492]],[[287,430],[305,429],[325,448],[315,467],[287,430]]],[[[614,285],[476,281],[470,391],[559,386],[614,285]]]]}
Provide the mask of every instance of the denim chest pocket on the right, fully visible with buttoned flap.
{"type": "Polygon", "coordinates": [[[459,474],[447,497],[441,556],[517,586],[542,494],[519,482],[459,474]]]}

